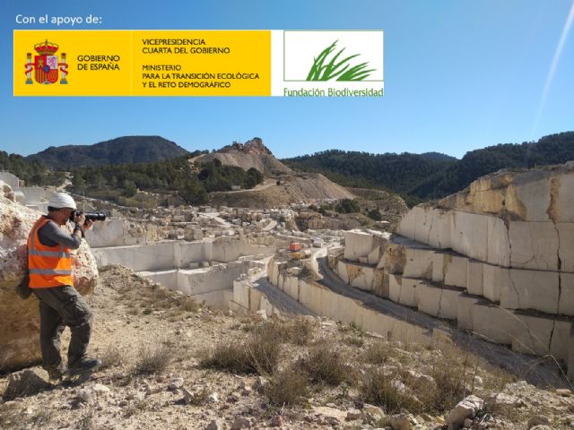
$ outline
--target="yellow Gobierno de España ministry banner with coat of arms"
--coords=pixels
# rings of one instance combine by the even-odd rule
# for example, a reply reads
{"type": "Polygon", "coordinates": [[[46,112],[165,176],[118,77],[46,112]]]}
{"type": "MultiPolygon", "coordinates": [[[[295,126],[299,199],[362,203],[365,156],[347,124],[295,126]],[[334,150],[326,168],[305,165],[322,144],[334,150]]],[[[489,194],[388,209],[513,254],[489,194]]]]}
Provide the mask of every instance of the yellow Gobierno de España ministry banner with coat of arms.
{"type": "Polygon", "coordinates": [[[14,30],[14,96],[270,96],[270,30],[14,30]]]}

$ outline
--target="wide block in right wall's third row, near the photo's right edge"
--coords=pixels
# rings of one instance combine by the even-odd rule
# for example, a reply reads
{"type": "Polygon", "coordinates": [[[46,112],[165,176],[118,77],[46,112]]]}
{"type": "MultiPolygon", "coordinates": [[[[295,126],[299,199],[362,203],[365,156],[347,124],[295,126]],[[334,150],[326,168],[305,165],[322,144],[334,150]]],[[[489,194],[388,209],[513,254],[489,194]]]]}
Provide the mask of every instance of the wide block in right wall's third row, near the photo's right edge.
{"type": "Polygon", "coordinates": [[[501,285],[500,306],[506,309],[535,309],[547,314],[557,313],[557,272],[510,269],[509,280],[508,284],[501,285]]]}

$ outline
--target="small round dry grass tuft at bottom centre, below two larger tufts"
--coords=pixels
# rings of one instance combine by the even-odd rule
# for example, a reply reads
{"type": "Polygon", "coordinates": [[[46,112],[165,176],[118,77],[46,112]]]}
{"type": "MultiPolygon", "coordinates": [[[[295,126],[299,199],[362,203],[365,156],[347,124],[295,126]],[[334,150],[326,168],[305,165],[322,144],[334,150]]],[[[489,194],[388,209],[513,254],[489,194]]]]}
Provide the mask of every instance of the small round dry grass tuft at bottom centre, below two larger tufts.
{"type": "Polygon", "coordinates": [[[301,403],[309,391],[309,378],[299,368],[289,366],[275,372],[265,385],[265,395],[274,406],[290,406],[301,403]]]}

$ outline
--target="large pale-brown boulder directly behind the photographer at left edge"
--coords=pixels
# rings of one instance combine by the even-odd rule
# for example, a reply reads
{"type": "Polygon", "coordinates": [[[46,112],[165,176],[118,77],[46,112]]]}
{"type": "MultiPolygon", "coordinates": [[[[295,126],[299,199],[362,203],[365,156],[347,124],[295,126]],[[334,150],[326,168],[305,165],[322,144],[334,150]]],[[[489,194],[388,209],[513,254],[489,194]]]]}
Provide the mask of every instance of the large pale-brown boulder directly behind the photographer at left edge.
{"type": "MultiPolygon", "coordinates": [[[[39,360],[38,300],[22,300],[14,288],[27,270],[26,241],[40,212],[0,196],[0,372],[39,360]]],[[[74,251],[74,287],[90,294],[98,269],[90,247],[83,241],[74,251]]]]}

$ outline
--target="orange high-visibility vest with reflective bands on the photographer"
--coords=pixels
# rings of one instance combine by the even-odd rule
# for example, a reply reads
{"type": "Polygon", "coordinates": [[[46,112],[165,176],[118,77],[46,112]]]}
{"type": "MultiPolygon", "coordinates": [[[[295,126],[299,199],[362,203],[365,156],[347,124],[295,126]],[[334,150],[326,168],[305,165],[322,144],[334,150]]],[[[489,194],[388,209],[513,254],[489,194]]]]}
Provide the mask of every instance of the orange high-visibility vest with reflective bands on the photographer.
{"type": "Polygon", "coordinates": [[[39,241],[38,230],[50,219],[42,215],[28,236],[28,271],[30,288],[74,286],[70,248],[64,245],[46,246],[39,241]]]}

